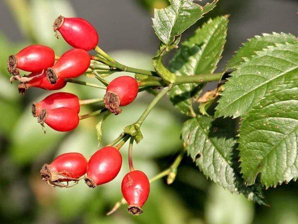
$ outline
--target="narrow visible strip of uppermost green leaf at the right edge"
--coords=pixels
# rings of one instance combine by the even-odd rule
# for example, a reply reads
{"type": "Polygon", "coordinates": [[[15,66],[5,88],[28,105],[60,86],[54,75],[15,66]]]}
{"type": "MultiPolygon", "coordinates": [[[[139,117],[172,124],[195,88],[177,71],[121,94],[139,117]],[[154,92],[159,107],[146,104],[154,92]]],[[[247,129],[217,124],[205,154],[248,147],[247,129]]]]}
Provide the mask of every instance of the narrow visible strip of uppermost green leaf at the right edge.
{"type": "Polygon", "coordinates": [[[275,46],[276,44],[294,44],[297,42],[297,38],[292,34],[286,33],[276,33],[272,34],[263,33],[262,36],[254,36],[243,44],[243,47],[240,48],[231,60],[229,60],[226,68],[237,68],[242,64],[246,58],[251,57],[256,54],[257,51],[262,51],[268,46],[275,46]]]}

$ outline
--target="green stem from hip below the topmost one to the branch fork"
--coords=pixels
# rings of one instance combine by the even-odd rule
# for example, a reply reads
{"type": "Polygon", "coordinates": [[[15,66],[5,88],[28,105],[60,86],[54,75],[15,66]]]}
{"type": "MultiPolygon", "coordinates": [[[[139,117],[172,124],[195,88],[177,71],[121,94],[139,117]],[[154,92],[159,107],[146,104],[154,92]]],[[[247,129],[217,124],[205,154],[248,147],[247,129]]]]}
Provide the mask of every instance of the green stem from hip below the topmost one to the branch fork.
{"type": "Polygon", "coordinates": [[[126,66],[126,65],[120,64],[119,62],[117,62],[115,60],[114,61],[109,61],[109,60],[105,60],[105,59],[99,58],[99,57],[92,57],[92,59],[100,61],[100,62],[110,66],[111,68],[117,68],[120,71],[127,71],[127,72],[138,73],[138,74],[146,74],[147,76],[159,77],[158,74],[155,71],[150,71],[150,70],[145,70],[145,69],[139,69],[139,68],[126,66]]]}

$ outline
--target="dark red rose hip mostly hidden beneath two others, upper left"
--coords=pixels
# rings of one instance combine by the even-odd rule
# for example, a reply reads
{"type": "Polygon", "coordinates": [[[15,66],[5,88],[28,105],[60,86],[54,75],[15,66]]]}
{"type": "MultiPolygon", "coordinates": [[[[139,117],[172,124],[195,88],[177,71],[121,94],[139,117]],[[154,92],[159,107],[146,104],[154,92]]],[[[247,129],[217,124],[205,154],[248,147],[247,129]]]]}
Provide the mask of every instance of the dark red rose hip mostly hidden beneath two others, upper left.
{"type": "Polygon", "coordinates": [[[67,82],[62,78],[58,78],[55,84],[51,84],[47,79],[46,72],[31,73],[27,77],[33,79],[26,83],[21,83],[18,86],[19,93],[21,94],[24,94],[25,91],[30,87],[36,87],[45,90],[58,90],[62,89],[67,84],[67,82]]]}

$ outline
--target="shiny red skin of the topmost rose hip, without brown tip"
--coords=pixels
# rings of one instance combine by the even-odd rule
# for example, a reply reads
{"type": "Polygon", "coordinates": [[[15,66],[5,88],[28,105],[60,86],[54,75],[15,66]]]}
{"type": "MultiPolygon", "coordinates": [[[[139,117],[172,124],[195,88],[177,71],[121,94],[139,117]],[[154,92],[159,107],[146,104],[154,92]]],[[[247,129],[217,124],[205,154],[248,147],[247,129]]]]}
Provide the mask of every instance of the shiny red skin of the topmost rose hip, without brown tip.
{"type": "Polygon", "coordinates": [[[82,18],[65,18],[57,29],[64,40],[74,48],[86,51],[94,49],[98,44],[98,33],[96,29],[82,18]]]}

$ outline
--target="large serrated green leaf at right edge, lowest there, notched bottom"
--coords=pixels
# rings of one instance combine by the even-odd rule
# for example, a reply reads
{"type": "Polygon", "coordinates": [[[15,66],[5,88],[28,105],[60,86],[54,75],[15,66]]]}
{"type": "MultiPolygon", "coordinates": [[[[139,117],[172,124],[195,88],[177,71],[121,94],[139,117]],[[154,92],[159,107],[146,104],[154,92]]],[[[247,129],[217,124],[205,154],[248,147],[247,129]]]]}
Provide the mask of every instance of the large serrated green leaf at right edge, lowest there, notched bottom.
{"type": "Polygon", "coordinates": [[[268,188],[298,178],[298,74],[275,87],[249,111],[240,128],[241,172],[248,184],[258,173],[268,188]]]}

